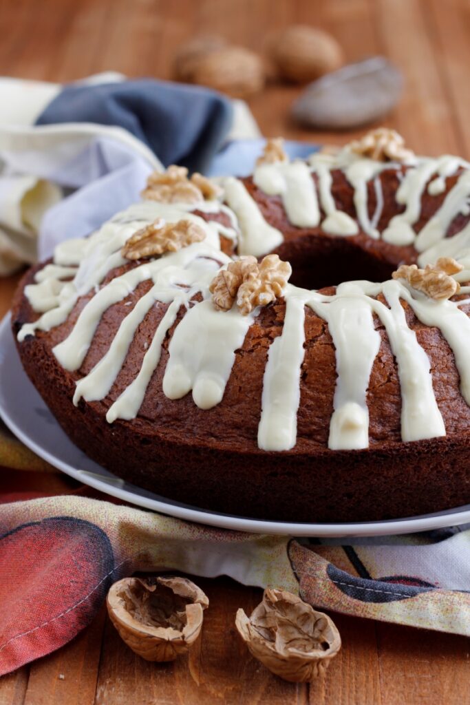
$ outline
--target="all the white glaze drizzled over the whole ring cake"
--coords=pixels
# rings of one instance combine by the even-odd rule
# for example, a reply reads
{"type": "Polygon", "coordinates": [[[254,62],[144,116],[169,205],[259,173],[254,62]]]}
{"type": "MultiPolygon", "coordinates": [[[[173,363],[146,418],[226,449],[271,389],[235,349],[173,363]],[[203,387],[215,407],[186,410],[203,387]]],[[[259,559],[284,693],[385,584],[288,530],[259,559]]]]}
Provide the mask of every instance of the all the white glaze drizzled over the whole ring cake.
{"type": "MultiPolygon", "coordinates": [[[[404,212],[390,221],[382,234],[394,244],[414,244],[420,252],[419,263],[432,262],[440,256],[456,257],[464,271],[457,281],[470,281],[470,224],[452,238],[446,238],[450,223],[457,214],[469,209],[470,165],[454,157],[422,159],[402,167],[361,159],[352,154],[339,157],[314,155],[311,170],[318,182],[319,202],[325,214],[323,230],[348,236],[361,231],[379,238],[377,226],[383,212],[381,171],[395,168],[401,178],[397,202],[404,212]],[[357,222],[341,212],[331,193],[333,168],[342,165],[354,189],[357,222]],[[421,214],[421,197],[428,184],[431,196],[443,192],[445,178],[463,169],[457,183],[447,193],[443,204],[421,232],[414,227],[421,214]],[[435,178],[432,177],[435,175],[435,178]],[[373,180],[376,209],[369,216],[367,184],[373,180]],[[442,181],[444,180],[444,182],[442,181]]],[[[269,164],[257,168],[255,183],[266,193],[278,194],[293,225],[314,226],[319,223],[319,202],[310,168],[300,162],[269,164]],[[304,225],[302,225],[304,223],[304,225]]],[[[283,235],[266,222],[259,207],[240,180],[224,180],[225,201],[201,204],[159,204],[144,202],[117,214],[111,221],[83,240],[61,243],[54,252],[54,263],[35,276],[35,283],[25,288],[32,308],[39,314],[35,323],[25,324],[18,333],[22,341],[36,330],[48,331],[66,321],[75,303],[87,296],[85,305],[68,335],[54,348],[58,362],[70,372],[80,370],[89,351],[101,318],[110,307],[125,306],[125,315],[106,353],[93,369],[79,379],[74,403],[80,399],[99,401],[109,395],[135,338],[139,326],[156,306],[166,307],[152,334],[144,343],[142,364],[135,378],[109,407],[106,419],[133,419],[140,410],[151,377],[161,360],[165,337],[175,327],[168,346],[168,361],[163,374],[163,393],[172,399],[192,391],[194,403],[201,409],[213,408],[223,399],[235,362],[236,350],[242,348],[257,310],[242,316],[236,305],[230,312],[220,312],[210,300],[209,284],[230,258],[220,250],[220,235],[238,240],[241,254],[263,255],[275,249],[283,235]],[[206,222],[192,211],[223,212],[230,226],[206,222]],[[178,252],[126,266],[109,280],[116,268],[128,265],[121,249],[126,240],[148,223],[173,222],[188,218],[204,228],[206,238],[178,252]],[[140,284],[148,282],[144,293],[136,295],[140,284]]],[[[464,286],[462,293],[470,293],[464,286]]],[[[297,443],[297,411],[301,393],[304,360],[305,307],[309,307],[328,325],[336,357],[337,379],[330,419],[328,447],[332,450],[360,450],[369,446],[369,408],[367,395],[373,364],[381,348],[381,333],[390,343],[397,364],[402,397],[401,435],[405,442],[445,435],[445,425],[433,389],[431,364],[414,330],[407,324],[403,302],[426,326],[438,328],[454,354],[459,372],[462,397],[470,405],[470,320],[462,311],[469,300],[431,300],[404,281],[382,284],[367,281],[342,283],[333,295],[285,288],[285,320],[280,336],[268,350],[261,397],[258,444],[263,450],[288,451],[297,443]],[[386,303],[378,299],[382,295],[386,303]]]]}

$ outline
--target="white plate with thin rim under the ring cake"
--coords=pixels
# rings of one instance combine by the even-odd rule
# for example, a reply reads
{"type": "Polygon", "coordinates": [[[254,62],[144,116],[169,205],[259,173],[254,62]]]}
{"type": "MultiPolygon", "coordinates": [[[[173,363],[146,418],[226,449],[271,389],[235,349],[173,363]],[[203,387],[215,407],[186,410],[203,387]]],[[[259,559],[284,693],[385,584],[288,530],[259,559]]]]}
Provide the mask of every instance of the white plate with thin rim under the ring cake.
{"type": "Polygon", "coordinates": [[[192,522],[225,529],[297,537],[407,534],[470,522],[470,505],[386,522],[301,524],[261,521],[190,507],[124,482],[88,458],[59,427],[23,371],[11,334],[9,314],[0,324],[0,415],[25,446],[79,482],[140,507],[192,522]]]}

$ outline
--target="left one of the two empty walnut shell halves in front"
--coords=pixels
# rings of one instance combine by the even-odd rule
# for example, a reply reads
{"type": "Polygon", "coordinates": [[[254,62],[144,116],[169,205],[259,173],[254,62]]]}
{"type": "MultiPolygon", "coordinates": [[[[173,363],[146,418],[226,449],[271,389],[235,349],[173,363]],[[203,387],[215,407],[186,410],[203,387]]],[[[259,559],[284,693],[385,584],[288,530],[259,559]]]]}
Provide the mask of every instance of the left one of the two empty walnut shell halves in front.
{"type": "Polygon", "coordinates": [[[174,661],[199,637],[209,600],[184,577],[128,577],[111,586],[106,606],[132,651],[146,661],[174,661]]]}

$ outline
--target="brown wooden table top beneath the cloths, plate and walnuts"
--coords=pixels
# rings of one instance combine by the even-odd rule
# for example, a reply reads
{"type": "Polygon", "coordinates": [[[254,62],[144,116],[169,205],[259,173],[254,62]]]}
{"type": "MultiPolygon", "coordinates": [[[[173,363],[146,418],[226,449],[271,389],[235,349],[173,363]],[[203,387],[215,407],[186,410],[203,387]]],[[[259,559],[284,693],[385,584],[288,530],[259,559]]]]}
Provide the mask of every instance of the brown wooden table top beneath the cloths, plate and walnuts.
{"type": "MultiPolygon", "coordinates": [[[[292,22],[319,25],[347,59],[386,54],[407,79],[386,124],[423,154],[470,157],[470,3],[465,0],[4,0],[0,73],[68,81],[113,69],[169,78],[175,47],[195,33],[220,33],[259,49],[292,22]]],[[[250,105],[266,135],[346,142],[352,133],[307,133],[290,123],[295,87],[269,87],[250,105]]],[[[0,280],[8,308],[15,278],[0,280]]],[[[3,485],[54,489],[66,482],[18,473],[3,485]]],[[[0,486],[1,489],[5,489],[0,486]]],[[[190,661],[159,666],[120,641],[104,611],[65,648],[0,680],[0,705],[459,705],[470,704],[470,644],[440,635],[333,615],[343,648],[310,687],[271,676],[235,635],[238,607],[261,591],[197,580],[211,600],[190,661]]]]}

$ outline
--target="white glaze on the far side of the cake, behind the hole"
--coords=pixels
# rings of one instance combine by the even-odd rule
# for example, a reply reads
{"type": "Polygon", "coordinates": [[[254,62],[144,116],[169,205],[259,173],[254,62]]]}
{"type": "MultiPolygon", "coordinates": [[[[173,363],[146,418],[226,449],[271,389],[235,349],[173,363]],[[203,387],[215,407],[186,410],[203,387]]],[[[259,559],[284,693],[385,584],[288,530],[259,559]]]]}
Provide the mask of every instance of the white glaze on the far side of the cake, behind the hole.
{"type": "MultiPolygon", "coordinates": [[[[282,197],[287,219],[293,226],[313,228],[320,225],[321,230],[326,233],[342,237],[357,235],[359,231],[362,231],[370,238],[375,240],[382,238],[392,245],[414,245],[416,250],[423,255],[423,260],[432,261],[431,255],[426,254],[427,250],[432,248],[433,257],[435,252],[438,253],[437,257],[442,256],[440,248],[442,247],[442,252],[444,252],[447,247],[445,235],[450,223],[459,212],[464,214],[470,212],[470,205],[467,203],[470,198],[470,164],[458,157],[446,154],[437,159],[419,158],[403,166],[394,162],[366,159],[353,154],[346,148],[335,155],[312,154],[308,162],[310,170],[316,175],[318,186],[315,183],[312,184],[311,180],[307,178],[307,166],[298,161],[261,164],[254,171],[254,183],[261,190],[267,195],[282,197]],[[332,171],[335,169],[343,171],[345,178],[353,188],[357,220],[336,207],[332,192],[332,171]],[[404,173],[403,169],[406,169],[404,173]],[[463,173],[447,193],[445,202],[421,231],[416,232],[415,226],[421,216],[421,199],[426,185],[429,195],[438,196],[445,191],[446,178],[457,173],[459,169],[462,169],[463,173]],[[383,233],[380,233],[377,228],[383,212],[380,175],[384,170],[395,171],[400,180],[396,200],[397,203],[404,206],[404,212],[394,216],[383,233]],[[376,195],[376,209],[372,216],[369,216],[368,184],[371,181],[376,195]],[[317,188],[318,197],[316,195],[317,188]],[[319,223],[319,204],[325,214],[321,223],[319,223]]],[[[240,207],[240,204],[237,204],[237,207],[240,208],[242,219],[243,213],[247,214],[242,228],[245,233],[248,233],[245,235],[247,242],[240,249],[240,254],[254,254],[256,256],[265,254],[266,247],[259,245],[256,233],[254,234],[253,231],[256,230],[257,233],[262,231],[267,233],[271,240],[276,240],[269,230],[270,226],[262,219],[256,204],[255,208],[258,212],[253,209],[254,202],[240,181],[229,179],[227,185],[225,199],[229,205],[235,209],[235,200],[240,203],[243,201],[243,207],[240,207]],[[260,216],[262,221],[260,221],[260,216]],[[250,230],[249,224],[251,224],[252,230],[250,230]]],[[[273,247],[275,246],[273,245],[273,247]]]]}

